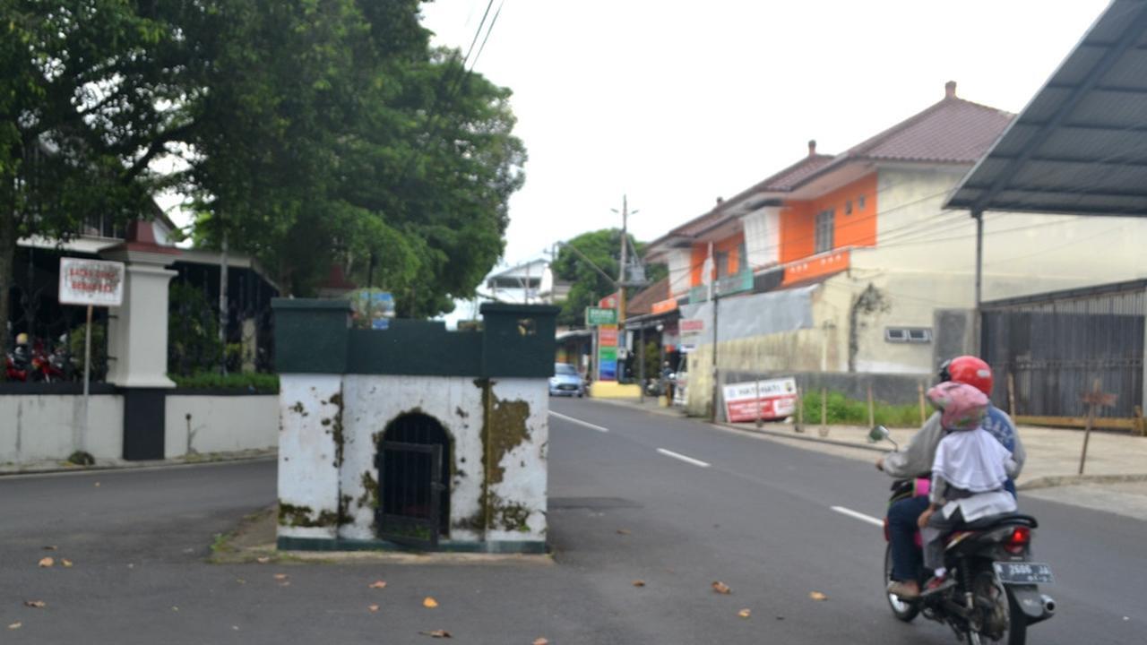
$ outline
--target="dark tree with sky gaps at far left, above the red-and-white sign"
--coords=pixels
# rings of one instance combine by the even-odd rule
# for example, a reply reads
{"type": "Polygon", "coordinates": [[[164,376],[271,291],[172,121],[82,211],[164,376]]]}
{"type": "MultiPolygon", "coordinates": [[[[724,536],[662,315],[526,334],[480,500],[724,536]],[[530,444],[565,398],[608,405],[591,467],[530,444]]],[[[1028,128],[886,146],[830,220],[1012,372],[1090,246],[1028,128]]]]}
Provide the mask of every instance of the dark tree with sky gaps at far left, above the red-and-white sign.
{"type": "Polygon", "coordinates": [[[146,212],[184,124],[164,17],[123,0],[0,0],[0,344],[17,241],[146,212]]]}

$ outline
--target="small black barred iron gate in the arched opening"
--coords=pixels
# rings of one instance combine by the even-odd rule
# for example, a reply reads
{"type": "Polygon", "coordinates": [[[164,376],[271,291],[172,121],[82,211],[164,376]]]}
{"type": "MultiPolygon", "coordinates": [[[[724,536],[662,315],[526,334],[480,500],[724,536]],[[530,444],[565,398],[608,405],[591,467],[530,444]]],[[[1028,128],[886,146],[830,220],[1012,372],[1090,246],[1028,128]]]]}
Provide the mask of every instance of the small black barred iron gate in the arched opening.
{"type": "Polygon", "coordinates": [[[442,445],[383,441],[379,467],[379,537],[436,549],[442,523],[442,445]]]}

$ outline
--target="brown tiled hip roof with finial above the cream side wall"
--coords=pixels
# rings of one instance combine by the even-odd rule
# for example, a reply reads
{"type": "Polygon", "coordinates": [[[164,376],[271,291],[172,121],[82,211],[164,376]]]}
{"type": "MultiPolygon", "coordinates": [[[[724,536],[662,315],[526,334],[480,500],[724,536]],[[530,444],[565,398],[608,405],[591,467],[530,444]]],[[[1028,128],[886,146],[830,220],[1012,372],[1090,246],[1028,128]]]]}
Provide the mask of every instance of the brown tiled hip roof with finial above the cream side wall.
{"type": "Polygon", "coordinates": [[[975,163],[1015,115],[949,96],[855,146],[842,157],[975,163]]]}

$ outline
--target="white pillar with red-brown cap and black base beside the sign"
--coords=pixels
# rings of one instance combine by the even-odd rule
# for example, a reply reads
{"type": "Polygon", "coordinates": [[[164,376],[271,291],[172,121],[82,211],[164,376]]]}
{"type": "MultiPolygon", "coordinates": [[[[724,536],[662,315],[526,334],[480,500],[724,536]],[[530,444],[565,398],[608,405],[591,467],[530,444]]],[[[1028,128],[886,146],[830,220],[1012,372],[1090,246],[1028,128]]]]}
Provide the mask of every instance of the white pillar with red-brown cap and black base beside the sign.
{"type": "Polygon", "coordinates": [[[179,249],[156,243],[150,222],[133,222],[127,240],[101,254],[125,263],[124,302],[108,319],[108,382],[124,397],[124,459],[164,458],[167,378],[167,282],[179,249]]]}

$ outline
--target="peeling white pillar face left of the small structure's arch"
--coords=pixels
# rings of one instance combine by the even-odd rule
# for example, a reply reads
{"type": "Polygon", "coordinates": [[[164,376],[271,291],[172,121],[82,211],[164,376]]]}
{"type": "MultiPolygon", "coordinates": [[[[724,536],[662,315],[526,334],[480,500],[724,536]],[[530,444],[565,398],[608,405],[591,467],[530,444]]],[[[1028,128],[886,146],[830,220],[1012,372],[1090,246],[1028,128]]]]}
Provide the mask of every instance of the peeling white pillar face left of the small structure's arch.
{"type": "Polygon", "coordinates": [[[340,375],[279,376],[280,537],[335,537],[341,396],[340,375]]]}

